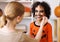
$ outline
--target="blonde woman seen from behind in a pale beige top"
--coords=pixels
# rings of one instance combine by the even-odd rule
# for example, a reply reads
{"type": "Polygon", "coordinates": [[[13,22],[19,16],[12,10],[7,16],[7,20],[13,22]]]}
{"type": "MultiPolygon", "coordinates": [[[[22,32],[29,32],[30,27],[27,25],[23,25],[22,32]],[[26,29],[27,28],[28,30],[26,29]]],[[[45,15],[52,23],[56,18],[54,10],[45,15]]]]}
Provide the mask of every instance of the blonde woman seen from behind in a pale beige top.
{"type": "MultiPolygon", "coordinates": [[[[18,2],[10,2],[4,9],[6,25],[0,29],[0,42],[38,42],[38,35],[35,39],[17,31],[16,24],[20,23],[24,15],[24,6],[18,2]]],[[[42,28],[41,28],[42,29],[42,28]]],[[[39,31],[40,32],[40,31],[39,31]]],[[[39,35],[40,36],[40,35],[39,35]]]]}

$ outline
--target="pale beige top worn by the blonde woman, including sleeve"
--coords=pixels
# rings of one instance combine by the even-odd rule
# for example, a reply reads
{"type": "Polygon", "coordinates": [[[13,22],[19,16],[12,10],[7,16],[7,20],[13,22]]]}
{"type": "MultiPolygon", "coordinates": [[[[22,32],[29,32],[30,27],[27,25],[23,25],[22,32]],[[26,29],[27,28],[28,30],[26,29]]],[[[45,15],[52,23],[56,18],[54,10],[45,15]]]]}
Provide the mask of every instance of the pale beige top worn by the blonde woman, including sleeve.
{"type": "Polygon", "coordinates": [[[6,26],[0,28],[0,42],[37,42],[21,31],[11,32],[6,26]]]}

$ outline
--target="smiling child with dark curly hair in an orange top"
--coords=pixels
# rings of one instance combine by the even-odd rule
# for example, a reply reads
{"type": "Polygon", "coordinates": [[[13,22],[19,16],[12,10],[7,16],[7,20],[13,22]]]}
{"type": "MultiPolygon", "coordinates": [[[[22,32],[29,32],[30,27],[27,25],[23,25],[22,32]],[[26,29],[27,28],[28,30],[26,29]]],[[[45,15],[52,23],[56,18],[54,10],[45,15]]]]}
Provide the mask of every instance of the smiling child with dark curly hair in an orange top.
{"type": "Polygon", "coordinates": [[[48,22],[51,13],[50,6],[46,2],[35,2],[32,6],[32,13],[35,21],[30,24],[30,36],[35,38],[42,27],[39,42],[52,42],[52,26],[48,22]]]}

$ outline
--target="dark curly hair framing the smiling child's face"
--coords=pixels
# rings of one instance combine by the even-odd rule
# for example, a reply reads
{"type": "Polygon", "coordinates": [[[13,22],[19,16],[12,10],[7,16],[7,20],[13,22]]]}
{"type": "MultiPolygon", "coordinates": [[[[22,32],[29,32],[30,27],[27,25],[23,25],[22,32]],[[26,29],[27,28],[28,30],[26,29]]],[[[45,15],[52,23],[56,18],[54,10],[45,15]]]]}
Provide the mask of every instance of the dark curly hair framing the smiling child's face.
{"type": "Polygon", "coordinates": [[[51,8],[50,6],[46,3],[46,2],[35,2],[32,6],[32,13],[33,16],[35,16],[35,8],[37,6],[42,6],[44,8],[45,11],[45,16],[49,19],[50,15],[51,15],[51,8]]]}

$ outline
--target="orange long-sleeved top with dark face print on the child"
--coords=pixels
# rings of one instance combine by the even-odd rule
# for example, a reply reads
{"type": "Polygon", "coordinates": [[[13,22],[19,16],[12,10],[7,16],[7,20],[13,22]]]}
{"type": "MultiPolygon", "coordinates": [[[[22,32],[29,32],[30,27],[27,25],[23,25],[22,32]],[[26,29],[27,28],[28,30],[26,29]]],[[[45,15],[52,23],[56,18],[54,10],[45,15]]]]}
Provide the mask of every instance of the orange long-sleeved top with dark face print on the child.
{"type": "MultiPolygon", "coordinates": [[[[40,27],[34,25],[34,22],[30,24],[30,36],[34,38],[40,27]]],[[[43,27],[42,37],[40,42],[52,42],[52,26],[47,23],[43,27]]]]}

